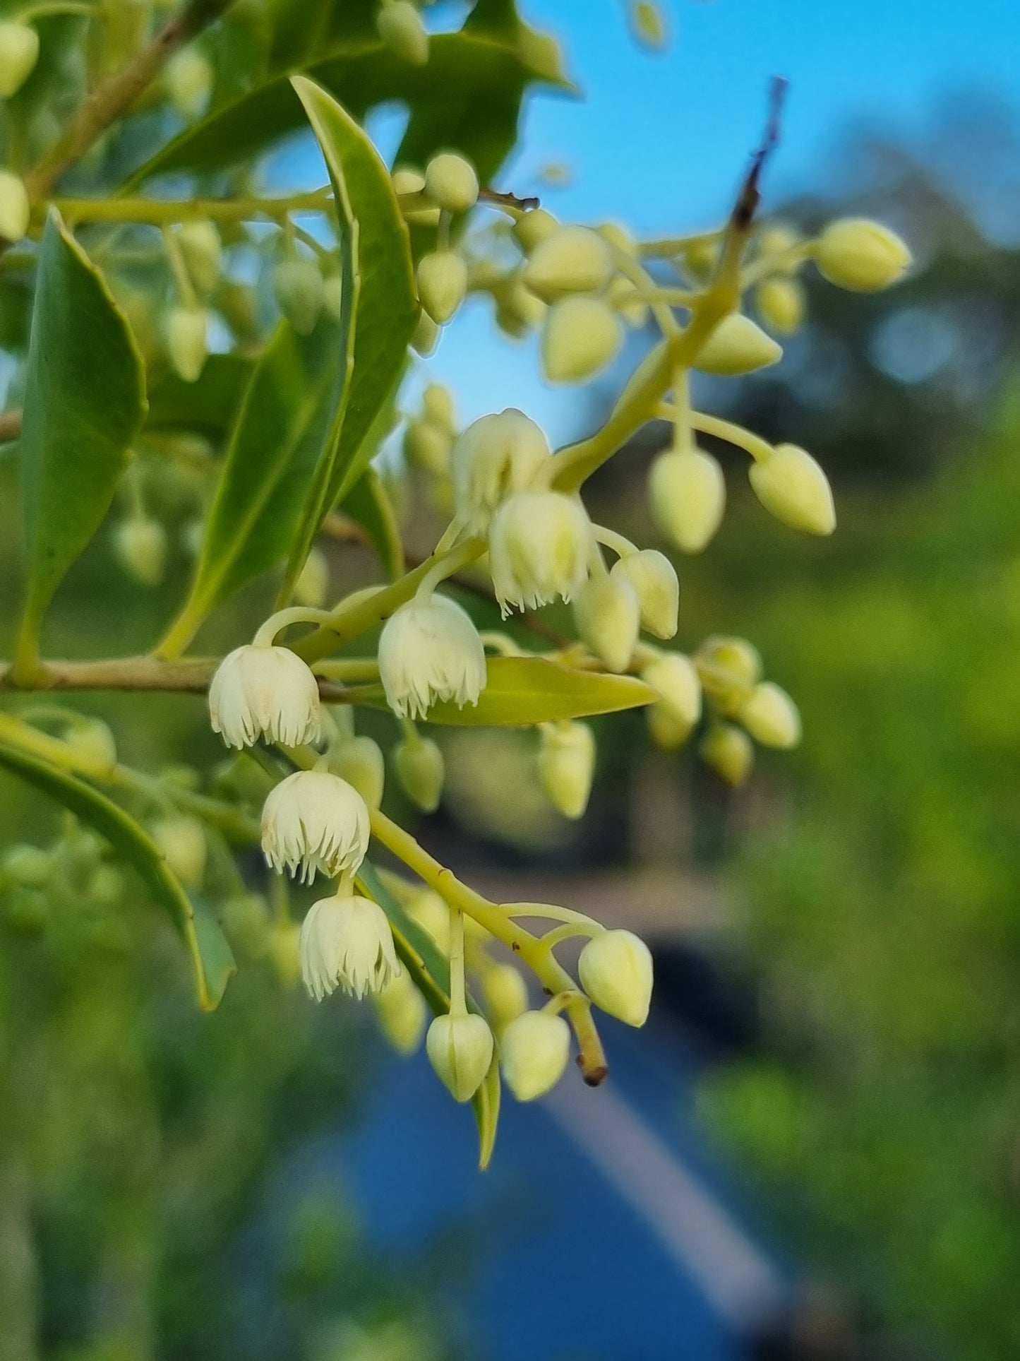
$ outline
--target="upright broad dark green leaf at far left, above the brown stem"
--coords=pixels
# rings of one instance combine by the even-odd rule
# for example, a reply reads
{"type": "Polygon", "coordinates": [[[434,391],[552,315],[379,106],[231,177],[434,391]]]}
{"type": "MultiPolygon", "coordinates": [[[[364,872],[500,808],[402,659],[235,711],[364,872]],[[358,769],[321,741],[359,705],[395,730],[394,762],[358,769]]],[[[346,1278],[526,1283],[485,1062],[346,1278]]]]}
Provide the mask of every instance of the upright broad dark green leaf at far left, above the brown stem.
{"type": "Polygon", "coordinates": [[[26,597],[19,670],[53,592],[106,514],[146,415],[141,357],[86,253],[50,211],[39,249],[22,416],[26,597]]]}

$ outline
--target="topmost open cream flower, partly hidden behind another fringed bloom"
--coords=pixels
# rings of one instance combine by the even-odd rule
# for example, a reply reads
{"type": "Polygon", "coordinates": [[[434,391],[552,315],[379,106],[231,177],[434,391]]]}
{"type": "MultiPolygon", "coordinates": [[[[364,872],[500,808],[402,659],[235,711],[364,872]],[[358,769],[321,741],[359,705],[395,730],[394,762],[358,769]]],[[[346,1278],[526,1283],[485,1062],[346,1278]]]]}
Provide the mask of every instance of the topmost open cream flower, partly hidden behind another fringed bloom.
{"type": "Polygon", "coordinates": [[[484,534],[500,501],[524,491],[549,457],[541,427],[515,407],[472,421],[450,460],[454,505],[465,528],[484,534]]]}

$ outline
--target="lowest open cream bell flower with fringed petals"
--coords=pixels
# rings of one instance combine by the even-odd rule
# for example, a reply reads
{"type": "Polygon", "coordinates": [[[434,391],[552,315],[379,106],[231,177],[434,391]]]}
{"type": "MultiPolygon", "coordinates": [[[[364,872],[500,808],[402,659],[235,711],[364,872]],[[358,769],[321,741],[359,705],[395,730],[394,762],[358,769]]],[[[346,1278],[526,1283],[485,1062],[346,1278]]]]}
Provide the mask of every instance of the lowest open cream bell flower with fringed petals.
{"type": "Polygon", "coordinates": [[[316,1002],[336,988],[363,998],[400,973],[386,913],[358,894],[321,898],[301,927],[301,976],[316,1002]]]}

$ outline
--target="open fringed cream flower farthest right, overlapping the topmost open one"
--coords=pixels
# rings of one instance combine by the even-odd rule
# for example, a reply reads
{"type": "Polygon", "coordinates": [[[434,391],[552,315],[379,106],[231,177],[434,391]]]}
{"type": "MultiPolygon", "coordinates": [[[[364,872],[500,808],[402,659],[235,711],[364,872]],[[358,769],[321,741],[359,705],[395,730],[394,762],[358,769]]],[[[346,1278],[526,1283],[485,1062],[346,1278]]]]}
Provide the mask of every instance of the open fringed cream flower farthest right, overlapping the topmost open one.
{"type": "Polygon", "coordinates": [[[567,603],[588,580],[592,524],[579,501],[559,491],[521,491],[492,519],[488,558],[503,617],[514,606],[567,603]]]}

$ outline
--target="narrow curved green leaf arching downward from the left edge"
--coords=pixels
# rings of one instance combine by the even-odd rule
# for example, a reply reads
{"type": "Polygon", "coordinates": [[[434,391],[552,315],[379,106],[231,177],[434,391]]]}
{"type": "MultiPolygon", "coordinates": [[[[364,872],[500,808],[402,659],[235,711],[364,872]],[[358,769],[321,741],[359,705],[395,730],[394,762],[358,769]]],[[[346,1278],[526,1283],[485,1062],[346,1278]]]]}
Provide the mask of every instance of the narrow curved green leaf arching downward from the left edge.
{"type": "Polygon", "coordinates": [[[152,897],[170,913],[188,947],[199,1006],[203,1011],[215,1011],[237,972],[234,955],[209,909],[197,894],[185,893],[144,827],[83,780],[16,747],[0,744],[0,766],[88,822],[137,870],[152,897]]]}

